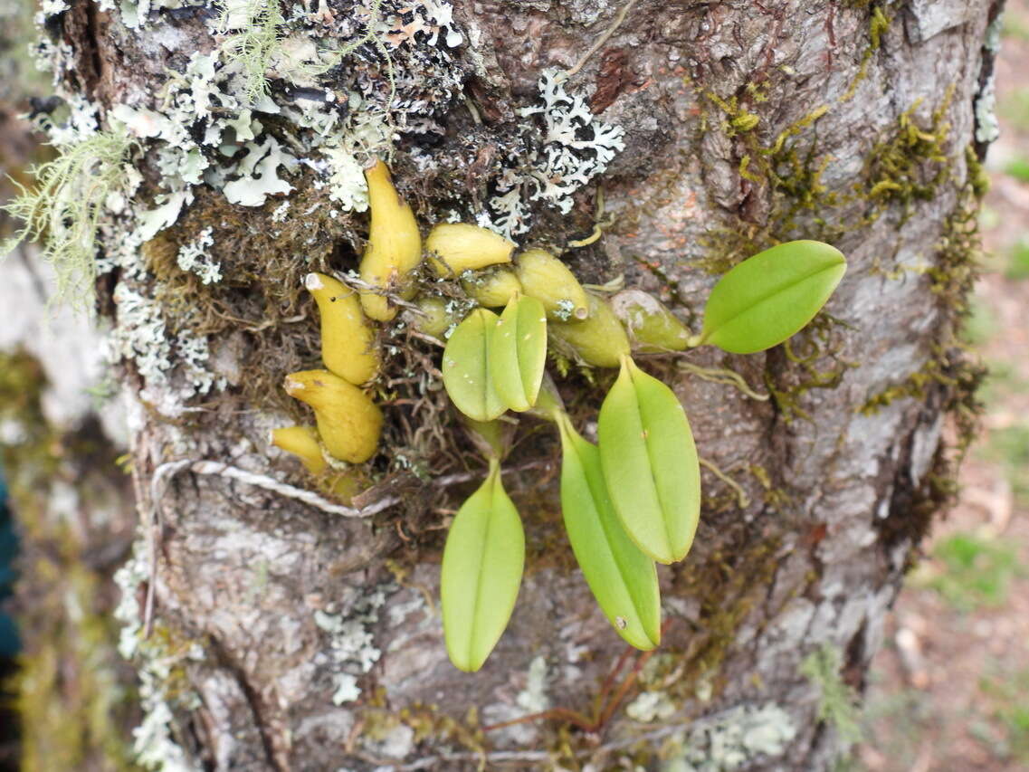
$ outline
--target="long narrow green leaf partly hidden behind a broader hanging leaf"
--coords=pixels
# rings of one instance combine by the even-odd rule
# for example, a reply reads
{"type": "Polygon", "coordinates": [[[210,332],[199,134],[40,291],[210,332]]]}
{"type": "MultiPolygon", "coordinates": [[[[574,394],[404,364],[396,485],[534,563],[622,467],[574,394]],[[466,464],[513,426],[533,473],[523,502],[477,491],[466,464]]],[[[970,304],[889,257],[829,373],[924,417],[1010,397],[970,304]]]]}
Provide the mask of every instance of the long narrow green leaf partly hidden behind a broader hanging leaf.
{"type": "Polygon", "coordinates": [[[661,643],[661,593],[653,561],[626,535],[604,484],[600,454],[564,413],[561,510],[590,590],[618,635],[637,648],[661,643]]]}

